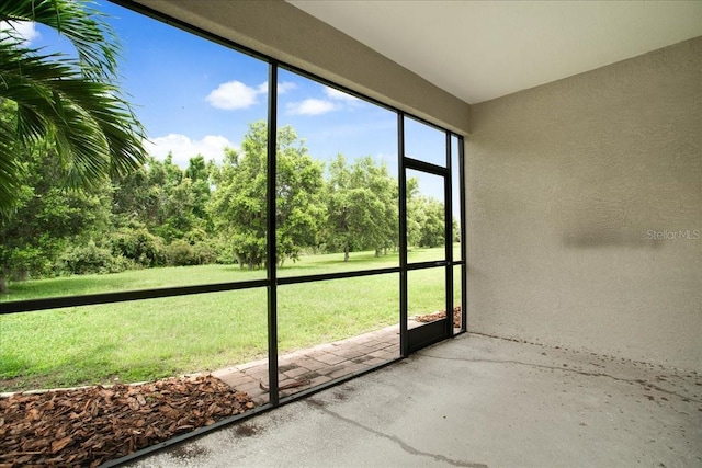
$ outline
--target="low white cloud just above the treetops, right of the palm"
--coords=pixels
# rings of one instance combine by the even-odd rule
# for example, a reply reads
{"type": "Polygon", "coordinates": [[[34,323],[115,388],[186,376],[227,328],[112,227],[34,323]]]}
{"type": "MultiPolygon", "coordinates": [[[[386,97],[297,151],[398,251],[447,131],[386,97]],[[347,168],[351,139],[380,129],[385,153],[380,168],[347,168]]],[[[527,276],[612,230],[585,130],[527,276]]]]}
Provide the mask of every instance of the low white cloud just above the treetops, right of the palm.
{"type": "Polygon", "coordinates": [[[156,137],[145,142],[149,155],[158,160],[165,160],[168,152],[173,153],[173,163],[185,169],[190,158],[202,155],[205,161],[214,159],[222,162],[224,148],[236,148],[231,141],[222,135],[207,135],[201,140],[190,139],[185,135],[169,134],[165,137],[156,137]]]}

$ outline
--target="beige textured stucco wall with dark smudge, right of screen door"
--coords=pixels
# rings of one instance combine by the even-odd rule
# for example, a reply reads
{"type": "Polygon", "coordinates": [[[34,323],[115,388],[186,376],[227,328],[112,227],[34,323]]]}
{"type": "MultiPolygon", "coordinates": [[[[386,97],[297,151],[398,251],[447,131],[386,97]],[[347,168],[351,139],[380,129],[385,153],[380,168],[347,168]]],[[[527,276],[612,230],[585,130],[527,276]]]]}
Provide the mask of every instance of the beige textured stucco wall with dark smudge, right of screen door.
{"type": "Polygon", "coordinates": [[[702,369],[702,37],[472,129],[469,330],[702,369]]]}

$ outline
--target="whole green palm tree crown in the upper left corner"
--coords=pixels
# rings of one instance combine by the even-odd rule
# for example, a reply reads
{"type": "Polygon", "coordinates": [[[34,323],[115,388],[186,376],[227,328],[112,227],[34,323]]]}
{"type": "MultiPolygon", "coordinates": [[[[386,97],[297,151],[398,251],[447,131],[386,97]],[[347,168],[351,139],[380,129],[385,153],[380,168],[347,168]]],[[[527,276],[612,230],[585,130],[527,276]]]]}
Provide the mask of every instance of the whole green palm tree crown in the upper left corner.
{"type": "Polygon", "coordinates": [[[70,187],[99,185],[146,161],[145,133],[117,83],[118,46],[105,15],[76,0],[0,0],[0,214],[18,203],[21,155],[47,141],[70,187]],[[77,57],[32,48],[18,21],[55,28],[77,57]]]}

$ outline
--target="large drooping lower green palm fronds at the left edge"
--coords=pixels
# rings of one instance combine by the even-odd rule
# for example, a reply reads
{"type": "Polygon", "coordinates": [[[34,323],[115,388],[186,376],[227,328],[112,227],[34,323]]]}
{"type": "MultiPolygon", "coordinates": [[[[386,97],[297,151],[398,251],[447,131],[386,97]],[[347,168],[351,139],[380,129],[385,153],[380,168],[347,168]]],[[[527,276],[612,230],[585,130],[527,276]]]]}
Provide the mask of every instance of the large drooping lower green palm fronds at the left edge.
{"type": "Polygon", "coordinates": [[[16,103],[14,128],[0,136],[0,210],[11,206],[19,148],[50,139],[69,186],[94,186],[146,162],[145,132],[118,89],[86,79],[76,59],[0,37],[0,98],[16,103]],[[4,138],[7,136],[7,138],[4,138]]]}

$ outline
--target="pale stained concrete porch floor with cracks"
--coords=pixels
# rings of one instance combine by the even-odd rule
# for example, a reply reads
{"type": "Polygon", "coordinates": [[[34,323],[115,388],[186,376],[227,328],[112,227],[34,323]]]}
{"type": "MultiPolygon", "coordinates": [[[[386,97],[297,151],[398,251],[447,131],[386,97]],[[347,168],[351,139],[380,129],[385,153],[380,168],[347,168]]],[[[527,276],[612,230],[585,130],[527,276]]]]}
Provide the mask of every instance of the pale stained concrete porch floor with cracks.
{"type": "Polygon", "coordinates": [[[135,467],[702,467],[702,376],[464,334],[135,467]]]}

